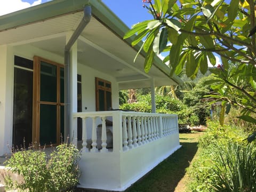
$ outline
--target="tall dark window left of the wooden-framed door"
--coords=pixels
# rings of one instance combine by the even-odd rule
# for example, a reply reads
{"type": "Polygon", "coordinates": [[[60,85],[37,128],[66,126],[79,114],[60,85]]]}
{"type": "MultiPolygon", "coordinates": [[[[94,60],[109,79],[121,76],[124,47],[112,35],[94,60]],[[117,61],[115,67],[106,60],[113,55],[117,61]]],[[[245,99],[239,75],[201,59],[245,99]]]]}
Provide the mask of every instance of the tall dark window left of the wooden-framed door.
{"type": "Polygon", "coordinates": [[[32,141],[33,61],[14,56],[13,146],[28,147],[32,141]]]}

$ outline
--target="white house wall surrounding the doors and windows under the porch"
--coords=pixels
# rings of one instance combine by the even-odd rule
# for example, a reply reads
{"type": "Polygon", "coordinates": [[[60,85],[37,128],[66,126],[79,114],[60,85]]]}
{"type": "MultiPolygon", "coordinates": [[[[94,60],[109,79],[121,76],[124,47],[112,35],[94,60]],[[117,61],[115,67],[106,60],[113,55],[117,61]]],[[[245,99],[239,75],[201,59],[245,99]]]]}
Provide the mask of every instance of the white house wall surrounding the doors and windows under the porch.
{"type": "MultiPolygon", "coordinates": [[[[7,143],[12,143],[14,55],[30,60],[36,55],[58,63],[64,62],[63,57],[31,45],[0,46],[0,156],[9,153],[7,143]]],[[[95,77],[111,82],[113,108],[118,108],[116,79],[85,65],[78,64],[77,69],[78,74],[82,75],[82,110],[95,111],[95,77]]]]}

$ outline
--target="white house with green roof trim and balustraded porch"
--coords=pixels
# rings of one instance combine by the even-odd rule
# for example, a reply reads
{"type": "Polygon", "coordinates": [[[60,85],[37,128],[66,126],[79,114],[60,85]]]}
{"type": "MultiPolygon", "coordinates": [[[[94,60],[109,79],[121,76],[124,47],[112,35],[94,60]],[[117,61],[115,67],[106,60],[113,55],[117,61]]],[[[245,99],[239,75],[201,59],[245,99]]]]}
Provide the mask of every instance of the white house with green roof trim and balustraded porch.
{"type": "Polygon", "coordinates": [[[23,138],[58,145],[74,135],[83,140],[80,187],[122,191],[177,150],[178,117],[155,113],[154,86],[182,81],[158,58],[148,74],[144,53],[134,63],[127,30],[100,0],[1,16],[0,156],[23,138]],[[151,87],[153,113],[109,110],[119,90],[139,87],[151,87]]]}

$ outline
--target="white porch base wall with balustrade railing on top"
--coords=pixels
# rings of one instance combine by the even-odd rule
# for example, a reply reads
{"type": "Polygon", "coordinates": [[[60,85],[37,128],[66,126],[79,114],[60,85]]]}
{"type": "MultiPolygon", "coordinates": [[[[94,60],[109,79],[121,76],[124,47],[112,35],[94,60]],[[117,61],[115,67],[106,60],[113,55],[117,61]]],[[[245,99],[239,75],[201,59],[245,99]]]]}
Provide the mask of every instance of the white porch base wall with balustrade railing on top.
{"type": "Polygon", "coordinates": [[[177,115],[113,110],[73,117],[83,122],[82,188],[123,191],[181,147],[177,115]]]}

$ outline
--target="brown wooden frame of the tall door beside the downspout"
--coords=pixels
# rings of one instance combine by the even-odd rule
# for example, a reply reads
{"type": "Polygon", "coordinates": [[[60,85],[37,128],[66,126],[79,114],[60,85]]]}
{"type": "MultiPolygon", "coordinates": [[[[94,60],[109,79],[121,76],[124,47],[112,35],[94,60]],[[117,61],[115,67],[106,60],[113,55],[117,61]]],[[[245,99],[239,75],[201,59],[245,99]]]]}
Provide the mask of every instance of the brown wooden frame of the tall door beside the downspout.
{"type": "MultiPolygon", "coordinates": [[[[33,75],[33,126],[32,126],[32,142],[40,142],[40,63],[41,61],[49,63],[51,65],[57,66],[57,122],[56,122],[56,129],[57,129],[57,143],[53,143],[53,145],[60,144],[60,106],[64,106],[64,103],[60,101],[60,68],[64,68],[64,65],[44,59],[38,56],[34,57],[34,75],[33,75]],[[59,70],[58,70],[59,69],[59,70]]],[[[47,104],[47,101],[43,101],[42,104],[47,104]]],[[[44,143],[41,143],[44,145],[44,143]]]]}

